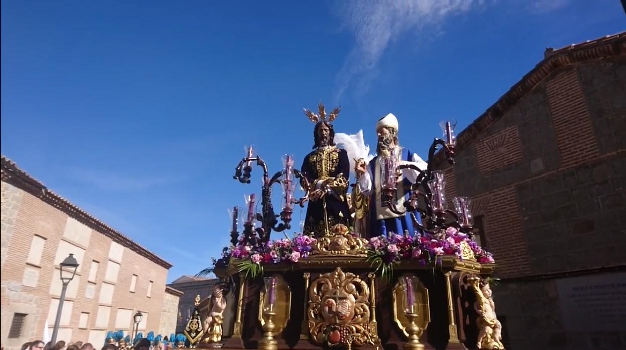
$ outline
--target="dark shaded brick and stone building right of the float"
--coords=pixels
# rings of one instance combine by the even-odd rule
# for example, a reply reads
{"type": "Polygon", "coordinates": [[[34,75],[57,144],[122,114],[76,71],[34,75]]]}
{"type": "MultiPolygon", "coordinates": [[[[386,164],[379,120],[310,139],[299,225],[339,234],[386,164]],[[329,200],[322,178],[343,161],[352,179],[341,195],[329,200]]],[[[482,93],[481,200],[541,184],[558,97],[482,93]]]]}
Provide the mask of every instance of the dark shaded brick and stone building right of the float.
{"type": "Polygon", "coordinates": [[[458,136],[507,349],[626,348],[626,32],[545,58],[458,136]]]}

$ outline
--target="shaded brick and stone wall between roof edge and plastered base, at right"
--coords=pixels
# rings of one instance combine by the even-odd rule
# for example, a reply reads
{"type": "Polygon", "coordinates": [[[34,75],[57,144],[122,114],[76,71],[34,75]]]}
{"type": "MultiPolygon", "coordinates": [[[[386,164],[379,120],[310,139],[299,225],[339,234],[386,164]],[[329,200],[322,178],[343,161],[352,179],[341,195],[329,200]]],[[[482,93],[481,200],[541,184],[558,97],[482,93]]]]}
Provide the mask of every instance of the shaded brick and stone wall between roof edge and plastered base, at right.
{"type": "Polygon", "coordinates": [[[613,233],[626,217],[625,63],[554,71],[458,154],[454,177],[446,168],[448,197],[468,195],[484,215],[500,277],[624,262],[600,252],[626,248],[613,233]]]}

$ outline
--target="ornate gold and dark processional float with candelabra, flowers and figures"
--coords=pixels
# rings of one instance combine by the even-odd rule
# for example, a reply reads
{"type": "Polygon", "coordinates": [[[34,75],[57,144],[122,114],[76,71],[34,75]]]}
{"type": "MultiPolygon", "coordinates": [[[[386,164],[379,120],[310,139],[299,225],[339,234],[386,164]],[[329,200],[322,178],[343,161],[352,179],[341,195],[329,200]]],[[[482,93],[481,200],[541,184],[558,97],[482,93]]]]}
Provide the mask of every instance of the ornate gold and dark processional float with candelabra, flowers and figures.
{"type": "MultiPolygon", "coordinates": [[[[332,131],[328,123],[338,113],[337,108],[327,116],[321,103],[318,113],[305,110],[316,123],[317,150],[306,159],[321,162],[311,163],[317,170],[309,170],[316,172],[317,178],[295,169],[291,155],[284,157],[284,168],[270,177],[266,163],[254,155],[252,147],[235,168],[233,178],[242,183],[250,183],[254,165],[262,169],[260,212],[255,212],[254,194],[247,197],[247,210],[229,210],[231,246],[213,261],[220,283],[203,315],[203,340],[197,346],[503,349],[489,286],[494,261],[473,240],[468,198],[453,198],[454,210],[448,209],[443,172],[433,169],[438,150],[454,164],[454,125],[443,123],[444,139],[435,138],[428,166],[403,162],[399,147],[391,147],[390,152],[372,161],[377,163],[370,162],[371,170],[379,172],[372,177],[378,179],[380,195],[359,202],[374,205],[372,201],[380,200],[396,217],[408,216],[414,232],[361,237],[346,224],[329,225],[342,216],[339,210],[334,219],[330,218],[337,214],[329,211],[330,196],[335,196],[335,202],[350,202],[342,197],[349,187],[349,174],[335,172],[329,176],[333,166],[341,167],[345,155],[334,150],[332,142],[324,143],[332,131]],[[411,183],[403,179],[405,170],[416,174],[411,183]],[[272,204],[275,184],[283,190],[284,205],[279,214],[272,204]],[[297,185],[304,190],[300,198],[295,196],[297,185]],[[406,190],[401,197],[397,195],[399,187],[406,190]],[[316,204],[323,208],[325,225],[321,229],[270,240],[272,231],[291,228],[295,205],[304,207],[313,200],[324,201],[316,204]],[[244,228],[239,232],[244,211],[244,228]],[[230,305],[228,293],[233,301],[230,305]],[[223,316],[227,309],[233,314],[230,319],[223,316]],[[227,324],[232,334],[223,332],[227,324]]],[[[379,138],[384,139],[381,133],[379,138]]],[[[356,167],[364,168],[364,160],[355,162],[356,167]]],[[[355,192],[359,194],[353,188],[352,197],[355,192]]]]}

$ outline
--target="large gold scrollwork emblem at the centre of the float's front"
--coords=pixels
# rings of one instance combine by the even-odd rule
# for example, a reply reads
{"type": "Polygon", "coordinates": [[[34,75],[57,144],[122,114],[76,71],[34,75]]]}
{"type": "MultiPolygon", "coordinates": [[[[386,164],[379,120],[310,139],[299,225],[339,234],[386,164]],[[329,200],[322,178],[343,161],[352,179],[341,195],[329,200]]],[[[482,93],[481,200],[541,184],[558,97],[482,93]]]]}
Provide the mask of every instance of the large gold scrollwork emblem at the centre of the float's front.
{"type": "Polygon", "coordinates": [[[339,267],[317,277],[309,288],[307,311],[312,340],[330,346],[373,345],[369,295],[365,281],[339,267]]]}

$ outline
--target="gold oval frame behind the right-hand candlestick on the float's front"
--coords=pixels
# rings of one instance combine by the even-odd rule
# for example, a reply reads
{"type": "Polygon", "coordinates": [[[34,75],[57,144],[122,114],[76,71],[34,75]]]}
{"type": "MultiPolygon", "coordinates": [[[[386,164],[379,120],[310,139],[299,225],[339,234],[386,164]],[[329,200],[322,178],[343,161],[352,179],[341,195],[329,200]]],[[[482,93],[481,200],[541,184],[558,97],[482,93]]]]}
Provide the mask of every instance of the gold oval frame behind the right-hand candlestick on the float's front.
{"type": "MultiPolygon", "coordinates": [[[[398,325],[398,328],[404,333],[406,337],[409,337],[409,332],[407,327],[409,326],[409,319],[406,317],[406,312],[404,311],[404,299],[406,299],[406,293],[404,292],[404,288],[406,285],[406,281],[404,277],[414,276],[414,274],[406,273],[403,274],[396,282],[396,285],[393,288],[392,298],[393,298],[393,320],[398,325]]],[[[428,289],[424,287],[422,281],[419,281],[418,288],[415,291],[415,301],[417,309],[415,313],[418,315],[416,318],[416,326],[419,329],[424,330],[428,327],[430,322],[430,306],[429,306],[429,298],[428,298],[428,289]]]]}

